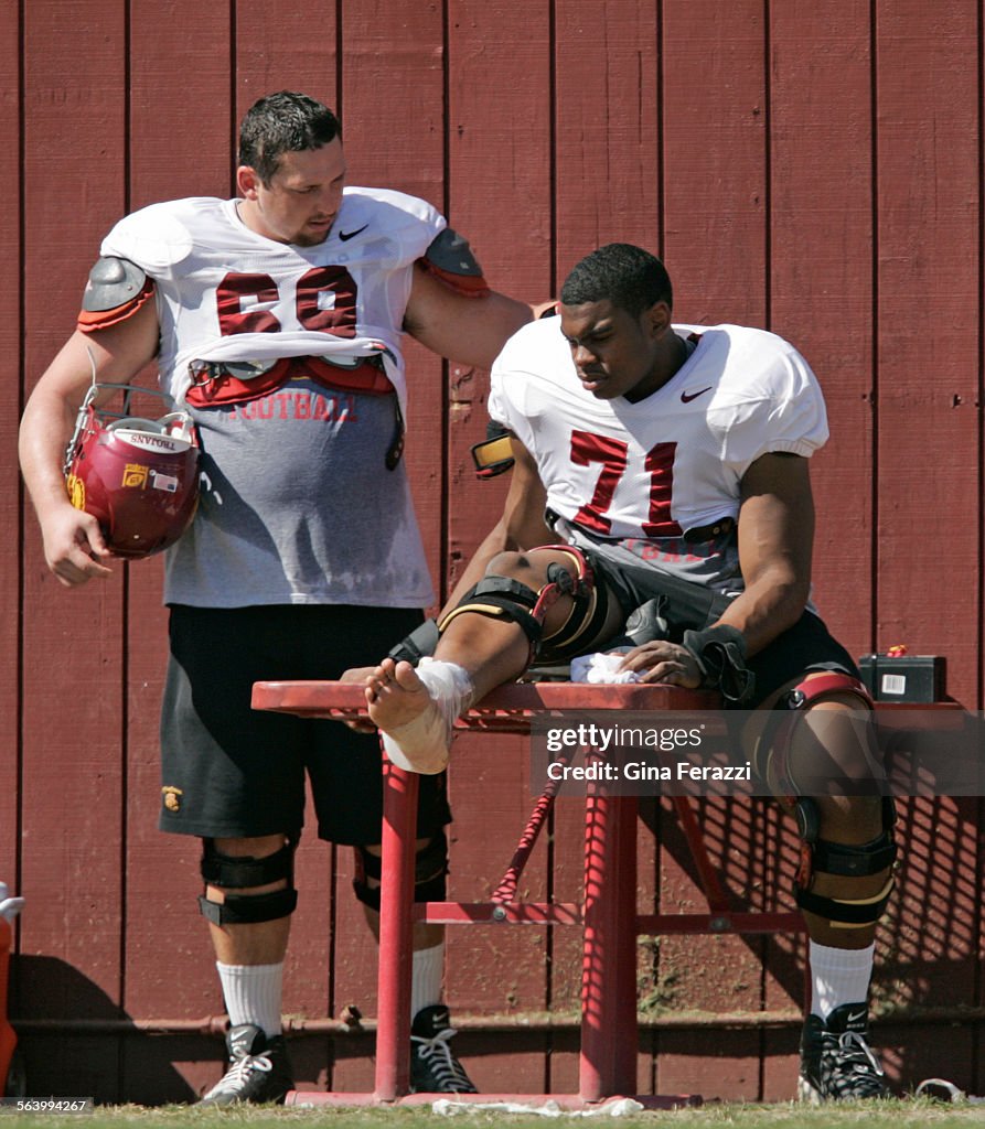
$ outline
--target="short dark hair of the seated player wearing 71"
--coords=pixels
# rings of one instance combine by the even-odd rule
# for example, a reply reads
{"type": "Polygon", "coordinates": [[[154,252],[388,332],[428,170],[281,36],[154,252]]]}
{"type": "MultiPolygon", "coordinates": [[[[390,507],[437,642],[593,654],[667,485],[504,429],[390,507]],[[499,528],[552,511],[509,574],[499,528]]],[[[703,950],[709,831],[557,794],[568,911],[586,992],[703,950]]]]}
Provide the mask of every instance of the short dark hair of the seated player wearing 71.
{"type": "Polygon", "coordinates": [[[631,243],[608,243],[576,263],[560,294],[565,306],[608,299],[638,317],[657,301],[673,307],[673,289],[663,263],[631,243]]]}

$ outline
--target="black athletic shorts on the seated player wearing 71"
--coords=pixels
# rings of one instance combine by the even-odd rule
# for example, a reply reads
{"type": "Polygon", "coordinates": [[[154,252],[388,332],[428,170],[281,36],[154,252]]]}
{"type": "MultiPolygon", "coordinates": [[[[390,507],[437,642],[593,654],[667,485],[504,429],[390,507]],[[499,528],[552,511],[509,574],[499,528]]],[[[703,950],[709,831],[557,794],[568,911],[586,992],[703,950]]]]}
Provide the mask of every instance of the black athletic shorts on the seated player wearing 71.
{"type": "MultiPolygon", "coordinates": [[[[700,631],[714,623],[730,603],[727,597],[699,584],[686,584],[680,590],[675,586],[669,592],[661,574],[643,561],[638,566],[627,566],[622,560],[613,560],[604,549],[583,551],[596,584],[601,579],[608,586],[627,615],[655,596],[668,596],[666,618],[674,641],[680,640],[685,630],[700,631]]],[[[599,649],[605,649],[604,642],[599,649]]],[[[792,628],[753,655],[748,666],[756,675],[756,685],[742,702],[742,709],[756,709],[782,685],[811,671],[838,671],[856,679],[860,676],[852,656],[831,636],[825,622],[807,611],[792,628]]]]}

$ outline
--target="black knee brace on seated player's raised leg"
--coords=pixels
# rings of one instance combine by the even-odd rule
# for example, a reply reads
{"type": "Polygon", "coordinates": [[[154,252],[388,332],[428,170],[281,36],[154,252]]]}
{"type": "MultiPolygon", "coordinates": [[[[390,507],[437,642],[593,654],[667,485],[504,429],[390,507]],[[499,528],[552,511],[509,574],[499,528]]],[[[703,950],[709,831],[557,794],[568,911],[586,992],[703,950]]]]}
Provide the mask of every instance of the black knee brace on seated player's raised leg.
{"type": "Polygon", "coordinates": [[[600,598],[592,569],[579,550],[572,545],[538,548],[566,553],[574,564],[574,574],[563,564],[552,562],[547,570],[547,584],[539,589],[512,577],[487,576],[444,616],[438,623],[438,630],[445,631],[462,612],[478,612],[480,615],[517,623],[530,644],[531,662],[534,658],[561,662],[577,655],[582,640],[590,641],[605,621],[605,601],[600,598]],[[572,597],[572,611],[557,631],[544,637],[544,616],[561,596],[572,597]]]}

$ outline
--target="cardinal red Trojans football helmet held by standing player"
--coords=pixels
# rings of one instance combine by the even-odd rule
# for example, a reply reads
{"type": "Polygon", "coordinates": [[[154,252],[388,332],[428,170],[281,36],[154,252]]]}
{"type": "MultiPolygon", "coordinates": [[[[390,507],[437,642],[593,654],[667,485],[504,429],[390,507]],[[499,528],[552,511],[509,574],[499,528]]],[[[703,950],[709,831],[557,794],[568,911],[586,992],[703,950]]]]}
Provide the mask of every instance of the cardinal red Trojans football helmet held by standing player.
{"type": "MultiPolygon", "coordinates": [[[[77,509],[99,522],[117,557],[138,559],[167,549],[195,516],[199,446],[188,412],[160,419],[95,406],[93,385],[66,452],[66,485],[77,509]]],[[[124,388],[124,386],[114,386],[124,388]]],[[[149,390],[125,390],[142,395],[149,390]]]]}

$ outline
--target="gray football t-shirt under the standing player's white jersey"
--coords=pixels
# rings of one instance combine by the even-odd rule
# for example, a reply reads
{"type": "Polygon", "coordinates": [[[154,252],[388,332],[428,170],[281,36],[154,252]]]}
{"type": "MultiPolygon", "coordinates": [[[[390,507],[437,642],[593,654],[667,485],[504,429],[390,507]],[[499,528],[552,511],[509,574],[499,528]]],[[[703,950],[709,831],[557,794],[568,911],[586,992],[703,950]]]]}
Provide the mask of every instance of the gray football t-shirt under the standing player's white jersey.
{"type": "Polygon", "coordinates": [[[193,409],[199,514],[168,552],[166,601],[432,603],[404,463],[385,466],[395,400],[300,379],[259,400],[193,409]]]}

